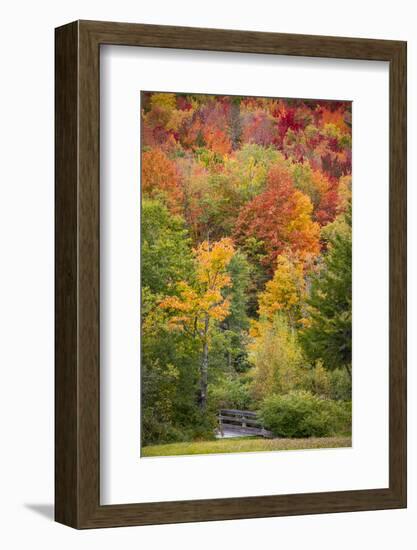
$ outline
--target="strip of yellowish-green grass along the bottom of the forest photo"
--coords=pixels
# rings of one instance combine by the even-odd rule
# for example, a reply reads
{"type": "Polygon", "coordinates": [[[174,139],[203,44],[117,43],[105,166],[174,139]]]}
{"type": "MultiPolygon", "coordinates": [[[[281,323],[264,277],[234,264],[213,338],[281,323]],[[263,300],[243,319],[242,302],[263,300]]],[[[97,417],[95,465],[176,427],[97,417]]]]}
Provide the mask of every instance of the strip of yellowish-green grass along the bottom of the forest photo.
{"type": "Polygon", "coordinates": [[[243,453],[262,451],[294,451],[302,449],[331,449],[351,447],[351,437],[311,437],[308,439],[231,438],[213,441],[193,441],[148,445],[142,447],[142,456],[202,455],[212,453],[243,453]]]}

